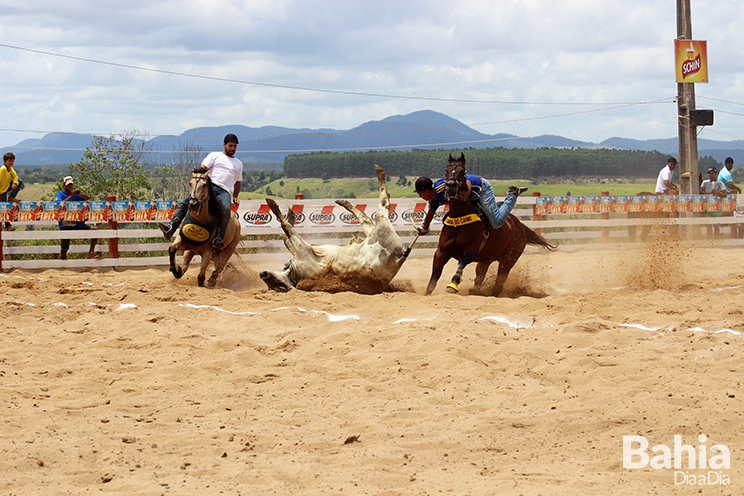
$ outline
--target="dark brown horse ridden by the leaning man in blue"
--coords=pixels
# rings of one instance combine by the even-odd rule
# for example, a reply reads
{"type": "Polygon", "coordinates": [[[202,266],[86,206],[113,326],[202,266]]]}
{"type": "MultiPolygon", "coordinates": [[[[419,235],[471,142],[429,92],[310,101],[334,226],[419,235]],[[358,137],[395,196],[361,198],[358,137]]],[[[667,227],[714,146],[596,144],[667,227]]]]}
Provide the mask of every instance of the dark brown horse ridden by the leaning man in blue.
{"type": "Polygon", "coordinates": [[[494,261],[499,262],[496,282],[491,291],[498,296],[504,289],[504,283],[514,264],[522,255],[527,244],[541,246],[554,251],[555,246],[542,236],[522,224],[519,219],[509,214],[503,226],[486,230],[485,223],[478,217],[478,211],[467,198],[467,183],[464,157],[454,161],[447,169],[446,193],[449,202],[449,213],[444,220],[439,246],[434,253],[431,279],[426,287],[426,294],[431,294],[442,275],[442,269],[450,258],[458,260],[457,272],[447,291],[456,293],[462,272],[470,262],[477,262],[475,267],[475,290],[482,291],[481,286],[494,261]]]}

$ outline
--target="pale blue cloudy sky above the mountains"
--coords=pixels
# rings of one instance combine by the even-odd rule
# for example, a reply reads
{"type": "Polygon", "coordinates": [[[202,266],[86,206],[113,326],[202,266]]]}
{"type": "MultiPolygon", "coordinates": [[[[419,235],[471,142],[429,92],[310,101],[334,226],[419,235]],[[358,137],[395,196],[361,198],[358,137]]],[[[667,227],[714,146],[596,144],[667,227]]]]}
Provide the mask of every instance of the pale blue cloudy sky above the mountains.
{"type": "MultiPolygon", "coordinates": [[[[744,2],[691,2],[710,60],[697,106],[716,111],[701,137],[744,139],[744,2]]],[[[0,146],[43,132],[349,129],[422,109],[489,134],[669,138],[675,12],[672,0],[0,0],[0,146]]]]}

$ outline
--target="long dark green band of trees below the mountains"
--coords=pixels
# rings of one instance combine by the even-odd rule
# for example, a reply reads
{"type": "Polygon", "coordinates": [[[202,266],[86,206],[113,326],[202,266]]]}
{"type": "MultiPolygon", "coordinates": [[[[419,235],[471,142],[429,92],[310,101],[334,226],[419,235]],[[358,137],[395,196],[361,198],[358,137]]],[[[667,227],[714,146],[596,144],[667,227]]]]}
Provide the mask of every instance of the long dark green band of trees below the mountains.
{"type": "MultiPolygon", "coordinates": [[[[456,150],[313,152],[288,155],[284,173],[290,178],[369,177],[375,164],[388,176],[441,177],[449,154],[465,154],[468,172],[489,179],[540,179],[549,177],[656,177],[667,155],[641,150],[588,148],[466,148],[456,150]]],[[[700,170],[712,157],[701,157],[700,170]]],[[[705,169],[703,169],[705,167],[705,169]]],[[[720,168],[720,164],[717,165],[720,168]]]]}

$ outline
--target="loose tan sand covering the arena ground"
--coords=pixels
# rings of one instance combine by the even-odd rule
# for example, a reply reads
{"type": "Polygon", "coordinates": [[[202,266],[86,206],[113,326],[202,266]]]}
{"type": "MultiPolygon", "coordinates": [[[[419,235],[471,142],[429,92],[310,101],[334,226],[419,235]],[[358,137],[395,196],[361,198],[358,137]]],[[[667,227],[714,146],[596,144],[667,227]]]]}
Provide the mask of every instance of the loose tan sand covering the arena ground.
{"type": "Polygon", "coordinates": [[[532,251],[500,298],[452,264],[425,297],[430,263],[377,295],[1,275],[0,494],[742,494],[741,249],[532,251]],[[675,434],[729,485],[623,468],[675,434]]]}

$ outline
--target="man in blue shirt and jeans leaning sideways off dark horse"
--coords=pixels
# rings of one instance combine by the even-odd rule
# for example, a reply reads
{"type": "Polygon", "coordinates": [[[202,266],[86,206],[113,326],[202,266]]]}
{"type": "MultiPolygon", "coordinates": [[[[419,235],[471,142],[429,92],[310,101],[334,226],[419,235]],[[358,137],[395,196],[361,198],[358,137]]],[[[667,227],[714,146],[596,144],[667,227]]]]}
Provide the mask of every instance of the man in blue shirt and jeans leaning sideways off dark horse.
{"type": "MultiPolygon", "coordinates": [[[[493,188],[488,180],[480,176],[473,176],[472,174],[467,174],[465,180],[468,185],[469,200],[480,203],[481,209],[493,229],[498,229],[504,225],[504,222],[509,217],[509,213],[514,208],[514,205],[517,204],[517,197],[527,191],[527,188],[509,186],[509,194],[504,199],[501,207],[499,207],[496,204],[493,188]]],[[[444,179],[438,179],[436,182],[432,182],[428,177],[420,177],[416,180],[416,189],[414,191],[422,199],[429,202],[429,211],[426,213],[423,225],[419,228],[419,233],[422,235],[429,232],[429,226],[439,206],[447,203],[444,197],[444,183],[444,179]]]]}

